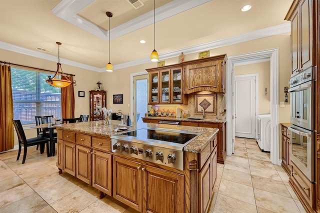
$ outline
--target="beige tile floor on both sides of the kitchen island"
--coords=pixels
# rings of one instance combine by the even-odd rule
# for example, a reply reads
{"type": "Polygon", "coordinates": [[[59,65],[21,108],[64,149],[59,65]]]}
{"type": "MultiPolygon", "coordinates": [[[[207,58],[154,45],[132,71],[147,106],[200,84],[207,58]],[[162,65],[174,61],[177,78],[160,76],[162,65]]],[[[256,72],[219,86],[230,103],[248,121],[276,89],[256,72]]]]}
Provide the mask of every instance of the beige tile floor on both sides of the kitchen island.
{"type": "MultiPolygon", "coordinates": [[[[63,172],[55,157],[29,147],[0,153],[0,212],[136,212],[63,172]]],[[[253,139],[236,138],[235,151],[217,164],[209,212],[305,212],[281,166],[273,165],[253,139]]]]}

